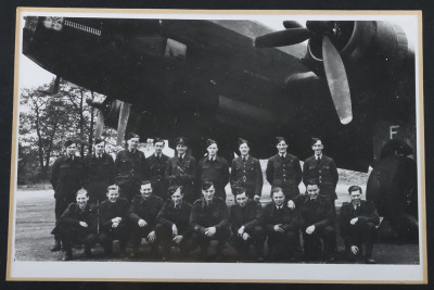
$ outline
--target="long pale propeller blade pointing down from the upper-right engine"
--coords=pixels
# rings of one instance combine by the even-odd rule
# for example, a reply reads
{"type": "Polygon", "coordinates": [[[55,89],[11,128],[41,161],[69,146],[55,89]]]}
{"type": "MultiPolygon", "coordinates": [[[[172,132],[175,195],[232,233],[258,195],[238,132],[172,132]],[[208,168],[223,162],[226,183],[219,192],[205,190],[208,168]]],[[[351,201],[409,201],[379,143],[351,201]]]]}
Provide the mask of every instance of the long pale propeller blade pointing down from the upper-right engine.
{"type": "Polygon", "coordinates": [[[334,108],[341,123],[346,125],[353,119],[348,79],[341,55],[327,35],[322,38],[322,59],[334,108]]]}

